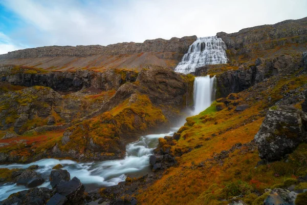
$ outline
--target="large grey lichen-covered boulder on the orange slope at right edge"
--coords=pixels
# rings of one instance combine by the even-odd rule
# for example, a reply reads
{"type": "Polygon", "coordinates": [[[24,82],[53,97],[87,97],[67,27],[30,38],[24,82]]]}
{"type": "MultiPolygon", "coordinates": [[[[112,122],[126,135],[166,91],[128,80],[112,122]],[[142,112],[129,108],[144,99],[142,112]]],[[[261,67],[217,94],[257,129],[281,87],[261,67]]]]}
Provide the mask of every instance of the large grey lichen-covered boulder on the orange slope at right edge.
{"type": "Polygon", "coordinates": [[[307,115],[291,106],[273,106],[262,122],[255,141],[259,156],[268,161],[279,160],[306,142],[307,115]]]}

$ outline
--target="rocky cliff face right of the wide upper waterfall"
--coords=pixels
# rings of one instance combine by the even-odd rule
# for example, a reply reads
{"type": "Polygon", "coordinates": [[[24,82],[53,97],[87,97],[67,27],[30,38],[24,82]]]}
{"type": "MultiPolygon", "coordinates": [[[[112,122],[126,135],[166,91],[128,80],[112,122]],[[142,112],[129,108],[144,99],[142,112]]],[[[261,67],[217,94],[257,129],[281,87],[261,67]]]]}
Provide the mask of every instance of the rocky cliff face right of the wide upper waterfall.
{"type": "Polygon", "coordinates": [[[226,43],[230,61],[302,52],[306,50],[307,17],[216,35],[226,43]]]}

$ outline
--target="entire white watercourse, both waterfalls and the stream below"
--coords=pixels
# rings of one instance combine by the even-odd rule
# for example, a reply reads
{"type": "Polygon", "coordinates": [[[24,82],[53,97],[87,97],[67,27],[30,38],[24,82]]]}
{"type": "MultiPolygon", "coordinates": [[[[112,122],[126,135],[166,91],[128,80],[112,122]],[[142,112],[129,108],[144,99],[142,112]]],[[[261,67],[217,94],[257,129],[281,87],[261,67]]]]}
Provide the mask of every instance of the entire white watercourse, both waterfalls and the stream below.
{"type": "MultiPolygon", "coordinates": [[[[206,63],[207,60],[209,60],[211,64],[223,63],[225,59],[222,51],[226,48],[224,44],[225,43],[217,39],[216,36],[199,38],[190,46],[189,52],[191,55],[190,57],[187,56],[183,58],[180,64],[182,65],[182,69],[178,70],[178,72],[189,73],[195,69],[194,64],[199,63],[198,65],[201,65],[204,62],[206,63]],[[209,53],[209,57],[204,58],[205,53],[209,53]]],[[[215,77],[195,77],[193,93],[194,111],[191,112],[191,115],[199,114],[211,105],[215,97],[214,83],[215,77]]],[[[153,149],[157,147],[158,139],[164,136],[172,136],[178,129],[179,128],[170,128],[167,133],[141,136],[138,141],[132,142],[126,146],[126,157],[124,159],[100,162],[41,159],[26,165],[16,163],[1,165],[0,168],[28,168],[31,165],[38,165],[39,168],[36,172],[41,174],[46,180],[39,187],[51,188],[49,181],[50,172],[55,165],[60,163],[63,169],[67,169],[70,172],[71,178],[76,176],[81,180],[86,187],[86,191],[91,191],[102,186],[114,186],[120,181],[124,181],[127,175],[130,177],[138,177],[148,173],[151,169],[149,166],[149,156],[152,155],[153,149]]],[[[0,186],[0,201],[6,199],[12,193],[26,189],[25,186],[17,186],[16,183],[6,183],[0,186]]]]}

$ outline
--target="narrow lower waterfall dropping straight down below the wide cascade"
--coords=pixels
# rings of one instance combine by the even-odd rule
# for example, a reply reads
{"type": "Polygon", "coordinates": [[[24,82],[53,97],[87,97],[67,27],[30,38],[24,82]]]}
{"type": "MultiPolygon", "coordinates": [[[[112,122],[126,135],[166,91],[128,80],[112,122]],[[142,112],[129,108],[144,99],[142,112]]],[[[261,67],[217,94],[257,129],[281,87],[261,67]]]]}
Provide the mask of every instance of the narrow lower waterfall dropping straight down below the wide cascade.
{"type": "Polygon", "coordinates": [[[210,78],[209,75],[205,77],[195,77],[194,115],[197,115],[210,107],[212,101],[215,99],[215,83],[215,76],[212,78],[210,78]]]}

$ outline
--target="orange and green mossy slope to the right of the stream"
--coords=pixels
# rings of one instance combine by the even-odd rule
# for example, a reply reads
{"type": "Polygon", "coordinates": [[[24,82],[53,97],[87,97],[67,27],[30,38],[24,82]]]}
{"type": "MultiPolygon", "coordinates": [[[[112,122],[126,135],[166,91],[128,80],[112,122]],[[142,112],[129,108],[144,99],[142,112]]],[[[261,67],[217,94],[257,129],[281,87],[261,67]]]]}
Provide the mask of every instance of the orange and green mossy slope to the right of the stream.
{"type": "MultiPolygon", "coordinates": [[[[196,145],[203,147],[178,157],[179,165],[168,169],[160,180],[137,195],[138,200],[142,204],[228,204],[233,196],[243,194],[246,203],[254,201],[253,204],[257,204],[263,201],[262,198],[256,199],[257,193],[264,193],[265,188],[282,183],[286,178],[307,174],[306,161],[302,160],[307,156],[307,145],[301,145],[289,162],[274,162],[256,169],[260,160],[258,152],[256,149],[249,151],[248,147],[231,153],[223,160],[222,166],[214,161],[204,162],[238,142],[244,144],[253,140],[266,109],[281,99],[284,93],[304,90],[303,85],[306,84],[306,75],[272,77],[238,93],[238,99],[231,100],[231,110],[225,108],[217,112],[215,106],[221,103],[214,102],[206,111],[187,118],[180,130],[181,137],[171,151],[176,155],[196,145]],[[271,100],[268,100],[269,96],[271,100]],[[250,107],[236,112],[235,106],[231,106],[236,102],[250,107]],[[204,167],[198,167],[200,162],[204,163],[204,167]]],[[[299,108],[300,103],[302,101],[294,106],[299,108]]],[[[163,145],[164,141],[160,142],[163,145]]]]}

